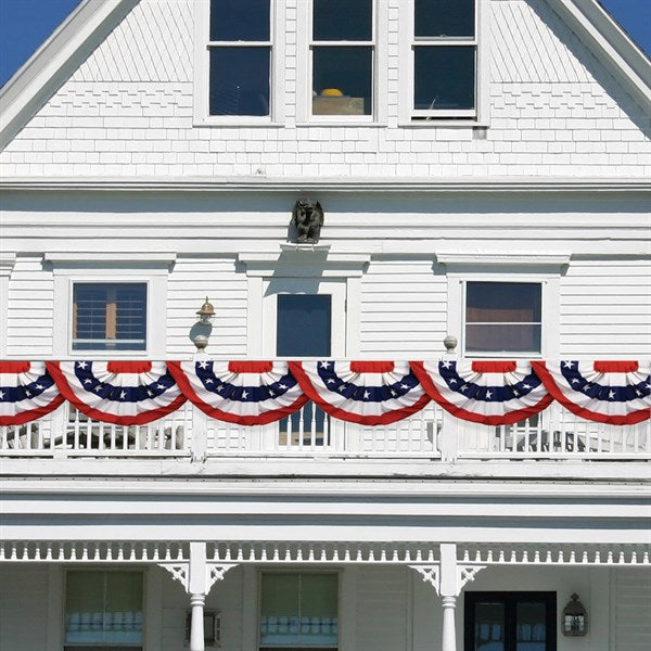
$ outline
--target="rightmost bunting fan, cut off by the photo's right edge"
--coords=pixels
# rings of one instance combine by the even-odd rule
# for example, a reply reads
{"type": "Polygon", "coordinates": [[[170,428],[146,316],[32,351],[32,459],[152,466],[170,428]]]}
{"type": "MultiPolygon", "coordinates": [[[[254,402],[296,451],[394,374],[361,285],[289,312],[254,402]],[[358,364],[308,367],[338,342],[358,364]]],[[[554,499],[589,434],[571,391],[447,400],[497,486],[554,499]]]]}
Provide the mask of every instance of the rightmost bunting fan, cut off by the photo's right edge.
{"type": "Polygon", "coordinates": [[[650,366],[637,361],[534,361],[549,393],[586,420],[631,425],[651,416],[650,366]]]}

